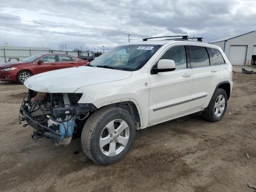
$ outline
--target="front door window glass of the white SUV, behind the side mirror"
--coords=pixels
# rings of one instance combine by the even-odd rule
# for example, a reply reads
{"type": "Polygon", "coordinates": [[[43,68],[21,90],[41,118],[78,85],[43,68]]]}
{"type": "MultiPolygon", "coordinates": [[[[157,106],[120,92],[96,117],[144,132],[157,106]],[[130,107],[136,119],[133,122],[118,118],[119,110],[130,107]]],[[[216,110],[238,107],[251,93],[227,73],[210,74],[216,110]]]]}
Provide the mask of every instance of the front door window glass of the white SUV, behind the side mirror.
{"type": "Polygon", "coordinates": [[[170,59],[174,60],[176,65],[176,70],[186,69],[187,68],[187,58],[186,58],[186,49],[185,46],[174,46],[169,48],[161,59],[170,59]]]}

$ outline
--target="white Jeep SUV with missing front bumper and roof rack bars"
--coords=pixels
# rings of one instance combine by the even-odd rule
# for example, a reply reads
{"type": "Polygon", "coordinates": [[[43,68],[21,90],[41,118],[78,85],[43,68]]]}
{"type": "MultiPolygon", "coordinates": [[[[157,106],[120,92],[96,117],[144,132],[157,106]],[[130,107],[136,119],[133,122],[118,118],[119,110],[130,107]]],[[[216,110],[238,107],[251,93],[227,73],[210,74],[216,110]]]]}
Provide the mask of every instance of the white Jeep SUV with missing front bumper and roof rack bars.
{"type": "Polygon", "coordinates": [[[117,46],[87,66],[28,78],[20,120],[57,145],[80,137],[98,164],[124,158],[135,130],[202,111],[219,121],[232,90],[232,66],[220,47],[160,40],[117,46]]]}

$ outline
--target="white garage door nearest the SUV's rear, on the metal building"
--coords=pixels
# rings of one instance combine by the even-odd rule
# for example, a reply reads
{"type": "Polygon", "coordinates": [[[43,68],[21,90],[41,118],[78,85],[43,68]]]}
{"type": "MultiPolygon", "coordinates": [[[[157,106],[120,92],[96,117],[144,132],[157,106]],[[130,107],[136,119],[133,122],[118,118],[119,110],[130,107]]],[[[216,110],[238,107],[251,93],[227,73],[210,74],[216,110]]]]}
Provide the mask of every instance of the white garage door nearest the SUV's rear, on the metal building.
{"type": "Polygon", "coordinates": [[[229,61],[232,65],[244,65],[246,57],[246,45],[231,45],[229,51],[229,61]]]}

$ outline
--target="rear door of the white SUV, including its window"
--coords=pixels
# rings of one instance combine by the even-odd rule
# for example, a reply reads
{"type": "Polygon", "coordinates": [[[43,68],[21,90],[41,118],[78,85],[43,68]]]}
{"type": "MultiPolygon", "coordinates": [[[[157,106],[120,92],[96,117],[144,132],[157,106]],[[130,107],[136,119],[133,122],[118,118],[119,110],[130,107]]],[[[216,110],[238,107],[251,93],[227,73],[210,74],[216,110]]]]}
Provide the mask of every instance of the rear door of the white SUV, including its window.
{"type": "Polygon", "coordinates": [[[210,65],[210,57],[204,46],[188,46],[190,62],[194,74],[191,110],[198,110],[208,105],[220,78],[217,66],[210,65]]]}

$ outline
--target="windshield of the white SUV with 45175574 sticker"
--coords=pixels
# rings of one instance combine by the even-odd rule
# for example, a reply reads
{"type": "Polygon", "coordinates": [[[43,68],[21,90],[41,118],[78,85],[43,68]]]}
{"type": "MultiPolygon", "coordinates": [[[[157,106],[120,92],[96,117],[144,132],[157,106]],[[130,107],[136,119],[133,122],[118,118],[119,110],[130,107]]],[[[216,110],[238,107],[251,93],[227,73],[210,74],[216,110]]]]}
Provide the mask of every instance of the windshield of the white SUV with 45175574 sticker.
{"type": "Polygon", "coordinates": [[[145,44],[118,46],[94,59],[90,66],[136,71],[142,68],[161,46],[145,44]]]}

